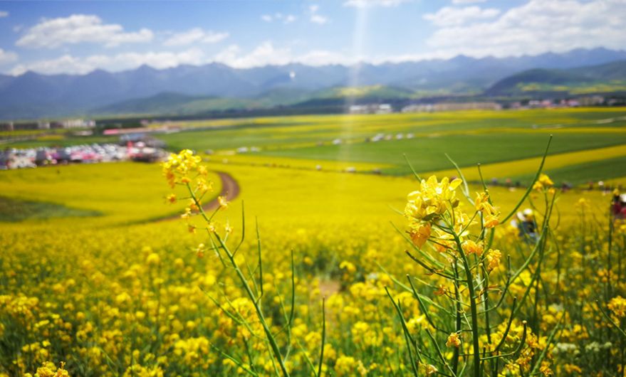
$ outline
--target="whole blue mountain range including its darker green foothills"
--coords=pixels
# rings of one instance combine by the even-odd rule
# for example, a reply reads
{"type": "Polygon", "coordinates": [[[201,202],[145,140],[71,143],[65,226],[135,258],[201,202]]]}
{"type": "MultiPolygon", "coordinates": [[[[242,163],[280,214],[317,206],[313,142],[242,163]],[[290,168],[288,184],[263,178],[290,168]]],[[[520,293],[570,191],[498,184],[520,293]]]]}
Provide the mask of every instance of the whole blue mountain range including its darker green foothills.
{"type": "Polygon", "coordinates": [[[620,70],[624,61],[626,51],[595,48],[510,58],[459,55],[447,60],[379,65],[294,63],[241,69],[210,63],[163,70],[142,65],[135,70],[117,73],[94,70],[85,75],[42,75],[28,71],[18,76],[0,75],[0,119],[147,114],[155,110],[167,114],[167,109],[192,114],[272,107],[337,97],[345,94],[346,87],[355,86],[368,88],[365,95],[374,97],[483,92],[511,95],[536,88],[524,83],[540,80],[544,85],[546,77],[550,81],[555,76],[559,78],[548,84],[558,92],[565,84],[597,83],[610,75],[615,77],[612,80],[625,80],[620,70]],[[616,66],[602,68],[604,71],[581,68],[612,62],[616,66]]]}

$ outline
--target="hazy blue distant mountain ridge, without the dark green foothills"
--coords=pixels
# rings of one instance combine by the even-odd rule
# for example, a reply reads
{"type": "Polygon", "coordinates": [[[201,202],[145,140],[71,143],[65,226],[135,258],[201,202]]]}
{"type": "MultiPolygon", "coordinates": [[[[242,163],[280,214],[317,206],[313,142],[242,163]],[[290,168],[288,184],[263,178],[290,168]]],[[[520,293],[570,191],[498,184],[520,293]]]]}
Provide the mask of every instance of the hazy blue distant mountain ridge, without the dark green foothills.
{"type": "MultiPolygon", "coordinates": [[[[221,63],[179,65],[157,70],[142,65],[135,70],[110,73],[94,70],[86,75],[0,75],[0,119],[31,119],[71,115],[96,115],[127,100],[176,93],[221,105],[239,106],[306,100],[311,93],[333,87],[382,85],[393,90],[438,93],[483,92],[509,75],[531,68],[568,69],[626,60],[626,51],[605,48],[577,49],[510,58],[422,60],[358,66],[309,66],[300,63],[258,68],[231,68],[221,63]],[[355,70],[355,68],[358,68],[355,70]],[[357,72],[356,80],[354,72],[357,72]],[[264,97],[272,95],[271,97],[264,97]],[[226,100],[224,99],[226,98],[226,100]],[[98,111],[96,111],[98,110],[98,111]]],[[[163,100],[164,98],[161,98],[163,100]]],[[[170,98],[172,99],[172,98],[170,98]]],[[[187,101],[189,98],[185,100],[187,101]]],[[[155,103],[157,100],[153,100],[155,103]]],[[[191,101],[194,102],[194,101],[191,101]]],[[[135,103],[135,106],[139,106],[135,103]]],[[[164,103],[167,105],[167,102],[164,103]]],[[[131,106],[132,107],[132,106],[131,106]]],[[[219,107],[219,106],[218,106],[219,107]]]]}

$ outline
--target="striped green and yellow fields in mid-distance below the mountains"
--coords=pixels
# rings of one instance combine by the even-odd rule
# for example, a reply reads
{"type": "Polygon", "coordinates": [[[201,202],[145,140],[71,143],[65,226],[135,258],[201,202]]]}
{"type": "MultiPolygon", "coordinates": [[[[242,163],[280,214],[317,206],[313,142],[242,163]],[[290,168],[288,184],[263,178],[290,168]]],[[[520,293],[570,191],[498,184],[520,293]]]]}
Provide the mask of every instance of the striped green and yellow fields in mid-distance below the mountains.
{"type": "MultiPolygon", "coordinates": [[[[549,135],[549,153],[598,150],[624,145],[626,110],[623,108],[577,108],[521,111],[461,111],[391,115],[310,115],[232,120],[177,122],[184,131],[155,134],[168,149],[214,151],[211,159],[228,159],[238,164],[293,166],[301,169],[377,169],[383,174],[406,175],[405,161],[424,173],[444,171],[448,154],[459,166],[499,164],[489,170],[491,178],[511,178],[526,183],[537,163],[527,169],[509,171],[508,165],[541,156],[549,135]],[[377,139],[380,139],[377,141],[377,139]],[[373,141],[377,142],[373,142],[373,141]],[[256,147],[258,152],[236,149],[256,147]]],[[[159,124],[155,124],[158,127],[159,124]]],[[[4,137],[10,136],[6,132],[4,137]]],[[[13,142],[7,147],[115,142],[113,137],[73,137],[70,134],[43,136],[13,142]]],[[[626,152],[624,153],[626,154],[626,152]]],[[[589,180],[620,179],[626,169],[622,154],[580,156],[570,164],[559,164],[555,179],[582,184],[589,180]],[[590,160],[593,164],[589,165],[590,160]]],[[[561,159],[563,160],[563,159],[561,159]]],[[[495,166],[495,165],[494,165],[495,166]]],[[[512,166],[512,165],[511,165],[512,166]]],[[[475,180],[475,179],[474,179],[475,180]]]]}

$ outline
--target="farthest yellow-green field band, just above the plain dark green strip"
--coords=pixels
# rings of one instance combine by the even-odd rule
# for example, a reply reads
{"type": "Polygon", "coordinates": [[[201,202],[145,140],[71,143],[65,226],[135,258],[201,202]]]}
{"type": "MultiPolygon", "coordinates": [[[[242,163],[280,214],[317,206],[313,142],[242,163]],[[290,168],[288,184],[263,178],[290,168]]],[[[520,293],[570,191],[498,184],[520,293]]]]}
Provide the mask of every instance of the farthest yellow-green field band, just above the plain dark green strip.
{"type": "MultiPolygon", "coordinates": [[[[360,142],[375,134],[414,133],[422,136],[439,136],[461,132],[536,132],[538,129],[558,127],[587,127],[578,132],[598,132],[597,120],[624,115],[625,112],[592,112],[578,110],[532,110],[525,112],[442,112],[392,115],[330,115],[286,117],[259,120],[241,120],[223,129],[202,129],[197,132],[160,135],[170,149],[192,148],[196,150],[236,149],[238,147],[264,147],[265,149],[293,149],[298,144],[315,146],[329,144],[333,139],[360,142]],[[264,120],[264,122],[260,122],[264,120]],[[249,127],[242,127],[249,125],[249,127]],[[270,128],[271,127],[271,128],[270,128]]],[[[194,123],[187,122],[190,126],[194,123]]],[[[204,124],[207,122],[198,122],[204,124]]],[[[193,126],[192,126],[193,127],[193,126]]],[[[210,126],[209,126],[210,127],[210,126]]],[[[607,132],[620,132],[615,127],[607,132]]]]}

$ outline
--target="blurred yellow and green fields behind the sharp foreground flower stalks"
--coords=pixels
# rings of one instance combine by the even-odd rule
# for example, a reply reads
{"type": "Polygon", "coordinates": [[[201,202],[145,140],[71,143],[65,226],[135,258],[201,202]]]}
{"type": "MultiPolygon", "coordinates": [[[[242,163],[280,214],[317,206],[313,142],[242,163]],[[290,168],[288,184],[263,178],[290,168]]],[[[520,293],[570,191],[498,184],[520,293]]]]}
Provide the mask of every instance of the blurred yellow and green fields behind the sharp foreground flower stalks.
{"type": "MultiPolygon", "coordinates": [[[[229,243],[245,231],[239,258],[254,275],[258,224],[263,279],[271,292],[264,304],[276,324],[282,321],[278,297],[289,294],[293,250],[300,313],[293,331],[308,339],[304,346],[311,357],[318,351],[320,299],[326,297],[330,351],[324,370],[350,376],[344,365],[362,365],[372,376],[402,376],[408,364],[397,351],[402,339],[400,333],[392,334],[400,327],[385,314],[392,307],[382,299],[383,287],[400,290],[391,279],[406,274],[429,279],[407,260],[407,243],[392,225],[405,228],[407,193],[418,187],[407,160],[424,178],[458,176],[448,154],[461,166],[472,196],[482,189],[480,162],[491,199],[505,215],[533,180],[552,134],[545,166],[558,193],[551,232],[569,251],[566,256],[551,254],[553,271],[545,284],[550,292],[567,288],[558,297],[575,306],[578,294],[591,294],[605,284],[603,229],[612,197],[605,188],[626,184],[626,121],[617,120],[625,115],[620,109],[575,109],[256,118],[192,122],[193,129],[157,137],[172,152],[191,147],[202,156],[214,184],[205,203],[222,189],[218,172],[236,181],[237,196],[226,211],[219,211],[214,226],[231,232],[229,243]],[[563,285],[565,276],[575,288],[563,285]],[[366,325],[368,333],[355,330],[366,325]],[[378,346],[368,346],[368,336],[379,336],[378,346]],[[397,366],[382,364],[397,352],[397,366]],[[353,361],[346,359],[350,357],[353,361]]],[[[61,139],[21,143],[81,143],[79,137],[59,135],[61,139]]],[[[1,171],[0,192],[0,247],[6,250],[0,255],[4,373],[19,375],[61,359],[77,376],[243,373],[216,351],[246,357],[241,330],[209,296],[227,307],[244,305],[245,299],[219,258],[209,249],[200,251],[199,243],[207,243],[204,231],[189,232],[179,218],[189,199],[174,190],[179,201],[167,201],[172,189],[159,164],[125,161],[1,171]]],[[[531,206],[541,223],[543,193],[533,191],[519,210],[531,206]]],[[[473,205],[463,201],[461,208],[469,211],[473,205]]],[[[510,220],[496,232],[496,244],[514,262],[531,251],[518,242],[517,232],[510,220]]],[[[517,294],[529,276],[512,285],[517,294]]],[[[433,297],[435,283],[424,284],[423,292],[433,297]]],[[[412,326],[419,329],[424,313],[417,304],[407,305],[412,326]]],[[[533,329],[544,340],[556,313],[547,305],[543,314],[552,319],[533,329]]],[[[534,315],[528,308],[523,314],[534,315]]],[[[507,316],[494,312],[492,320],[500,324],[507,316]]],[[[572,326],[588,324],[583,321],[588,314],[581,316],[572,326]]],[[[442,335],[437,337],[443,344],[442,335]]],[[[585,339],[578,341],[591,341],[585,339]]],[[[306,375],[303,351],[293,352],[289,368],[294,375],[306,375]]],[[[270,373],[267,355],[259,351],[255,357],[270,373]]],[[[563,367],[568,357],[557,357],[555,371],[570,375],[563,367]]],[[[588,365],[603,362],[593,360],[588,365]]]]}

